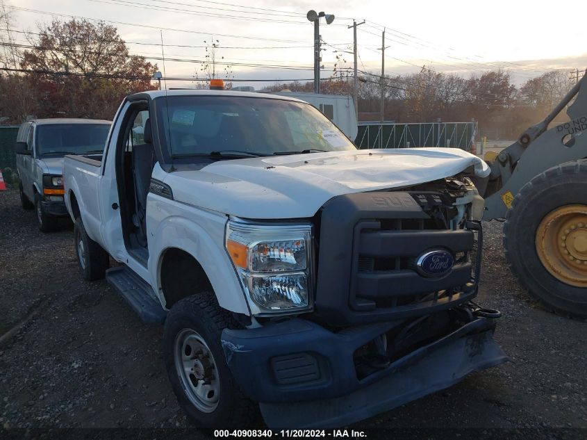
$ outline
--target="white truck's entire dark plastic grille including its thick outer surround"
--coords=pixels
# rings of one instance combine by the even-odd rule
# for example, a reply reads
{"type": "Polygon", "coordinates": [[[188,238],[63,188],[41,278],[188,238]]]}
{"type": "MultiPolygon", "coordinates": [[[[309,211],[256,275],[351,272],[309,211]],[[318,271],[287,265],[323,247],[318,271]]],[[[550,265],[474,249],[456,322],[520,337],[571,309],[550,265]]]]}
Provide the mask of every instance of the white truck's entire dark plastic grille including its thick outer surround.
{"type": "Polygon", "coordinates": [[[452,201],[409,192],[334,197],[320,213],[315,315],[331,325],[422,316],[477,293],[481,225],[453,230],[452,201]],[[442,202],[438,204],[436,202],[442,202]],[[433,204],[435,202],[436,204],[433,204]],[[416,270],[419,256],[450,252],[454,266],[439,277],[416,270]]]}

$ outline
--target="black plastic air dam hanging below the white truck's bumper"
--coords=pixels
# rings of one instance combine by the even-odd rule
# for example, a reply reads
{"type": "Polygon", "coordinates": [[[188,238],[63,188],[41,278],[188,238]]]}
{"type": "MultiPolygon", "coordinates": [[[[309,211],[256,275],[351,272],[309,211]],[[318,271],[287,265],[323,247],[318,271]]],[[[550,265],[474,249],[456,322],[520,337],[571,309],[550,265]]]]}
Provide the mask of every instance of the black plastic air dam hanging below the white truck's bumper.
{"type": "Polygon", "coordinates": [[[346,426],[452,386],[474,371],[509,361],[493,339],[492,329],[424,349],[423,356],[400,359],[390,366],[392,374],[347,396],[311,402],[261,402],[265,423],[272,429],[346,426]]]}

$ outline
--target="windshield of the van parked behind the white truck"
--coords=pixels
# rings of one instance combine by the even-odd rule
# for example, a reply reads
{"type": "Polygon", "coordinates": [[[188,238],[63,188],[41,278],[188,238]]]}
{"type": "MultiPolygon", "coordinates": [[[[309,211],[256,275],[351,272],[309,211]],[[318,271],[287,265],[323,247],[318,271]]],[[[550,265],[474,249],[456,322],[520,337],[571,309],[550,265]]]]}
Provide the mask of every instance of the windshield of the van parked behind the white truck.
{"type": "Polygon", "coordinates": [[[102,152],[110,124],[42,124],[36,130],[40,156],[102,152]]]}

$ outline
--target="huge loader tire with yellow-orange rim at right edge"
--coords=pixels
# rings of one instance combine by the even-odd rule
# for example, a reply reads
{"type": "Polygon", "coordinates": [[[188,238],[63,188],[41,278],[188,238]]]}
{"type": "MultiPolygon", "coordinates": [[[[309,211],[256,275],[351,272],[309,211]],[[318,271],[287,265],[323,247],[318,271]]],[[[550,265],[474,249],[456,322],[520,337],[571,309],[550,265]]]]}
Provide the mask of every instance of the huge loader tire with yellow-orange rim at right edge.
{"type": "Polygon", "coordinates": [[[516,195],[504,225],[511,272],[545,309],[587,316],[587,160],[549,168],[516,195]]]}

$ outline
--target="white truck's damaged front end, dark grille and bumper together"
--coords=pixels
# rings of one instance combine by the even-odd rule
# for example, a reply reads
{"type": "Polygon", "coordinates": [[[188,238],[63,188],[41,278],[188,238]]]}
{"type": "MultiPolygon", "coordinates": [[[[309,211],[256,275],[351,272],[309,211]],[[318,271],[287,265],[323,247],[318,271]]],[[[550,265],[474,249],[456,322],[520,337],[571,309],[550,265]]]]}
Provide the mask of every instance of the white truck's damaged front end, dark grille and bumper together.
{"type": "Polygon", "coordinates": [[[226,329],[270,427],[336,427],[507,361],[479,309],[483,199],[465,175],[334,197],[314,219],[314,311],[226,329]]]}

